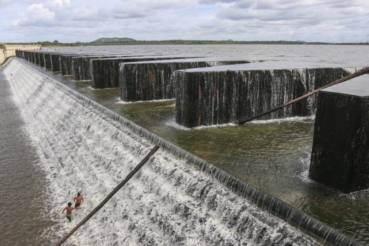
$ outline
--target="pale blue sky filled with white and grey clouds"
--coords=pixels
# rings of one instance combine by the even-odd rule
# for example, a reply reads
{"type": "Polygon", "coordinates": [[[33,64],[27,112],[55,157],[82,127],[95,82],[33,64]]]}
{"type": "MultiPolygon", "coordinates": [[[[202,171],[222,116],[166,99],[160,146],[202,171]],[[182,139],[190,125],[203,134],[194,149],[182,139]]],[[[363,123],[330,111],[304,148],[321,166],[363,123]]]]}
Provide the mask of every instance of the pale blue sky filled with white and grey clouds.
{"type": "Polygon", "coordinates": [[[367,42],[367,35],[369,0],[0,0],[0,42],[367,42]]]}

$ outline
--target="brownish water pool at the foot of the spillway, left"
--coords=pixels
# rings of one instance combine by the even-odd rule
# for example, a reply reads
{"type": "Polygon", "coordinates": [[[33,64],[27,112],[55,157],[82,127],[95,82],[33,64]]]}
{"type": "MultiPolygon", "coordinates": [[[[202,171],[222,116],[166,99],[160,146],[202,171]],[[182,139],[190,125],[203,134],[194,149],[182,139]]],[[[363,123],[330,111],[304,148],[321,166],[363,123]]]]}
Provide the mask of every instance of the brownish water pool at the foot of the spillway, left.
{"type": "Polygon", "coordinates": [[[0,245],[45,245],[65,229],[40,150],[0,69],[0,245]]]}

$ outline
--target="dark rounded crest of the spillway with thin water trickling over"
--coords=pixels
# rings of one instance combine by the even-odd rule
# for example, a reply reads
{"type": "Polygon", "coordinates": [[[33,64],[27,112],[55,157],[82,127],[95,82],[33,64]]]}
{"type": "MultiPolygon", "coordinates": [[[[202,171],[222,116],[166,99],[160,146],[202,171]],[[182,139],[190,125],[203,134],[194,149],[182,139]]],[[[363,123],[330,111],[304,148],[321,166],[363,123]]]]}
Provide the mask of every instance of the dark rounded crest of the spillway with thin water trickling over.
{"type": "MultiPolygon", "coordinates": [[[[45,79],[49,79],[49,77],[44,74],[40,73],[40,75],[44,76],[45,79]]],[[[206,175],[211,176],[218,181],[219,184],[229,188],[250,203],[263,209],[268,214],[275,215],[287,222],[289,225],[305,232],[307,235],[317,240],[317,244],[328,246],[362,246],[362,244],[350,239],[341,232],[325,225],[324,223],[304,214],[299,210],[294,209],[277,198],[240,181],[239,179],[205,162],[204,160],[185,152],[181,148],[130,122],[121,115],[111,112],[109,109],[97,104],[84,95],[65,87],[55,80],[51,80],[51,83],[83,100],[85,103],[91,105],[103,114],[106,114],[107,117],[113,119],[114,121],[118,121],[119,123],[123,124],[125,127],[131,129],[134,133],[147,139],[150,143],[159,143],[161,149],[172,153],[174,157],[181,159],[186,165],[204,172],[206,175]]],[[[278,240],[278,242],[281,241],[283,241],[283,238],[281,238],[280,241],[278,240]]]]}

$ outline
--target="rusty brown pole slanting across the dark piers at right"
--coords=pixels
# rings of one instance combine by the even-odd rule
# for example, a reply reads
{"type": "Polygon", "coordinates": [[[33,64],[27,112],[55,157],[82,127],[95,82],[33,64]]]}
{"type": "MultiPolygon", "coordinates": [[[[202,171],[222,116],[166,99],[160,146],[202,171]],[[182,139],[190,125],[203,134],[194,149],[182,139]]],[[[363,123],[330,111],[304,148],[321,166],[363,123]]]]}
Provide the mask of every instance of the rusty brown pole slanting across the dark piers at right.
{"type": "Polygon", "coordinates": [[[316,89],[316,90],[315,90],[315,91],[313,91],[313,92],[307,93],[306,95],[300,96],[300,97],[298,97],[298,98],[296,98],[296,99],[294,99],[294,100],[292,100],[292,101],[289,101],[289,102],[287,102],[287,103],[285,103],[285,104],[279,105],[279,106],[278,106],[278,107],[276,107],[276,108],[273,108],[273,109],[271,109],[271,110],[265,111],[265,112],[263,112],[263,113],[261,113],[261,114],[258,114],[258,115],[251,116],[251,117],[249,117],[249,118],[247,118],[247,119],[240,120],[240,121],[238,121],[238,122],[236,122],[236,123],[237,123],[237,124],[243,124],[243,123],[246,123],[246,122],[252,121],[252,120],[254,120],[254,119],[256,119],[256,118],[259,118],[259,117],[261,117],[261,116],[263,116],[263,115],[270,114],[270,113],[272,113],[272,112],[274,112],[274,111],[277,111],[278,109],[282,109],[282,108],[287,107],[288,105],[291,105],[291,104],[293,104],[293,103],[295,103],[295,102],[301,101],[302,99],[305,99],[305,98],[307,98],[307,97],[309,97],[309,96],[315,95],[315,94],[316,94],[316,93],[318,93],[320,90],[323,90],[323,89],[325,89],[325,88],[328,88],[328,87],[331,87],[331,86],[337,85],[337,84],[339,84],[339,83],[345,82],[345,81],[347,81],[347,80],[353,79],[353,78],[355,78],[355,77],[358,77],[358,76],[363,75],[363,74],[366,74],[366,73],[369,73],[369,67],[365,67],[365,68],[363,68],[363,69],[361,69],[361,70],[359,70],[359,71],[357,71],[357,72],[354,72],[353,74],[350,74],[350,75],[347,75],[346,77],[340,78],[340,79],[336,80],[335,82],[332,82],[332,83],[330,83],[330,84],[328,84],[328,85],[325,85],[325,86],[323,86],[323,87],[321,87],[321,88],[319,88],[319,89],[316,89]]]}

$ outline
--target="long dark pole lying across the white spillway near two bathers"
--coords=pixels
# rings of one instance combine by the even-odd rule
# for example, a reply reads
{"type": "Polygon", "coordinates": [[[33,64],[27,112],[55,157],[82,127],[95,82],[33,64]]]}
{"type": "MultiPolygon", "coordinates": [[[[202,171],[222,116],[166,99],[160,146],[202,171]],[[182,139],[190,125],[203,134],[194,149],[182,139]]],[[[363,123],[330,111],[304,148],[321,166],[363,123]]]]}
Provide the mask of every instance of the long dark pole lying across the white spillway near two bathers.
{"type": "Polygon", "coordinates": [[[80,228],[84,223],[86,223],[87,220],[89,220],[94,214],[96,214],[97,211],[99,211],[104,205],[105,203],[107,203],[110,198],[112,198],[114,196],[115,193],[118,192],[118,190],[120,190],[123,185],[125,183],[127,183],[135,173],[137,173],[138,170],[140,170],[140,168],[149,160],[149,158],[159,149],[159,145],[155,145],[154,148],[150,151],[149,154],[147,154],[145,156],[145,158],[132,170],[132,172],[130,172],[127,177],[125,177],[125,179],[117,185],[117,187],[115,187],[115,189],[113,189],[112,192],[110,192],[110,194],[104,199],[104,201],[102,201],[94,210],[92,210],[92,212],[87,215],[76,227],[74,227],[68,234],[65,235],[65,237],[63,237],[55,246],[61,246],[62,243],[65,242],[65,240],[67,240],[78,228],[80,228]]]}

